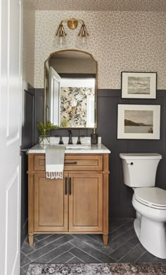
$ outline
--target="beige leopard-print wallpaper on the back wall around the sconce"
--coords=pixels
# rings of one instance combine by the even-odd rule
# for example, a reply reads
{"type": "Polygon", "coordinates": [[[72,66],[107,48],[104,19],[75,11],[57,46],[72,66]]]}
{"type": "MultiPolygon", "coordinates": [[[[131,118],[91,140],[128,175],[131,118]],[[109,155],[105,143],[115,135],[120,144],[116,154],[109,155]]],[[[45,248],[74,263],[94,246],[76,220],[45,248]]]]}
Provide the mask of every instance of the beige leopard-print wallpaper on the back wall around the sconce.
{"type": "Polygon", "coordinates": [[[35,11],[34,88],[44,86],[44,62],[55,45],[60,21],[81,18],[89,30],[87,47],[77,47],[69,30],[68,49],[81,49],[98,62],[98,88],[119,89],[121,71],[156,71],[166,88],[166,13],[145,11],[35,11]]]}

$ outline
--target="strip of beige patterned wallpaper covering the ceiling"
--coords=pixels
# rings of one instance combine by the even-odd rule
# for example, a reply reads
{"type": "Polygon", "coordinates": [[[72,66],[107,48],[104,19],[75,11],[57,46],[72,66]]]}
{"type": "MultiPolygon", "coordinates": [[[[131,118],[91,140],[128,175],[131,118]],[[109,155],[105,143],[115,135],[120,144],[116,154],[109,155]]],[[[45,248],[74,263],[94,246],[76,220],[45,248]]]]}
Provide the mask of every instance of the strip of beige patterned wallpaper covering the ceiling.
{"type": "Polygon", "coordinates": [[[166,11],[165,0],[24,0],[43,11],[166,11]]]}

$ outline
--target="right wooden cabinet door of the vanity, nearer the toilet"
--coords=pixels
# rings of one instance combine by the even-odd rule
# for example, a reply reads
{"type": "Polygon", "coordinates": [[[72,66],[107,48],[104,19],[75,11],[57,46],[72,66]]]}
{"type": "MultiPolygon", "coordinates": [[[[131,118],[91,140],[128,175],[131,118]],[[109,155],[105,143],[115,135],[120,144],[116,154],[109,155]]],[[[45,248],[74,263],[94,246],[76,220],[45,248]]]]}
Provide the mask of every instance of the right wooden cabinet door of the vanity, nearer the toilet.
{"type": "Polygon", "coordinates": [[[69,174],[69,230],[103,230],[103,175],[69,174]]]}

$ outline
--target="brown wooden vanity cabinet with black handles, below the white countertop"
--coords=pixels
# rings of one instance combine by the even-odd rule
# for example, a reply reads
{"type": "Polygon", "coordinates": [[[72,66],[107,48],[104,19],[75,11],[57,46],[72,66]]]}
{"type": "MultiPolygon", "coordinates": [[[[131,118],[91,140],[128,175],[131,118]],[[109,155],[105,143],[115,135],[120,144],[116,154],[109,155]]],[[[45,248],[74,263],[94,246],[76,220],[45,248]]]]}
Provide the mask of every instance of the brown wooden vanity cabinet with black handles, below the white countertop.
{"type": "Polygon", "coordinates": [[[63,180],[45,176],[45,155],[28,155],[28,235],[98,233],[108,243],[108,154],[65,155],[63,180]]]}

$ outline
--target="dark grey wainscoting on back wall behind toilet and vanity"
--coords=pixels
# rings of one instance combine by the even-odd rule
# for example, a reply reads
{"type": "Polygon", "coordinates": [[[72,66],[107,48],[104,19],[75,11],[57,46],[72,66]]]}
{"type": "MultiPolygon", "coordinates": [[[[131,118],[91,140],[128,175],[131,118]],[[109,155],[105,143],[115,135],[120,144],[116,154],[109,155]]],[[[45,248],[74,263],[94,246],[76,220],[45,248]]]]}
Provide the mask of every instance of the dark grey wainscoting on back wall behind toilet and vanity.
{"type": "MultiPolygon", "coordinates": [[[[43,95],[44,89],[35,91],[35,124],[43,120],[43,95]]],[[[122,163],[120,153],[161,153],[162,160],[158,165],[156,186],[166,189],[166,90],[158,90],[157,98],[149,99],[122,99],[121,90],[99,89],[97,96],[98,106],[98,136],[110,151],[110,185],[109,185],[109,216],[127,217],[135,216],[132,206],[131,188],[123,184],[122,163]],[[117,139],[117,104],[143,104],[161,105],[160,140],[117,139]]],[[[39,133],[35,128],[35,143],[38,142],[39,133]]],[[[72,135],[90,136],[91,129],[75,129],[72,135]]],[[[51,136],[68,136],[68,130],[59,129],[51,132],[51,136]]]]}

